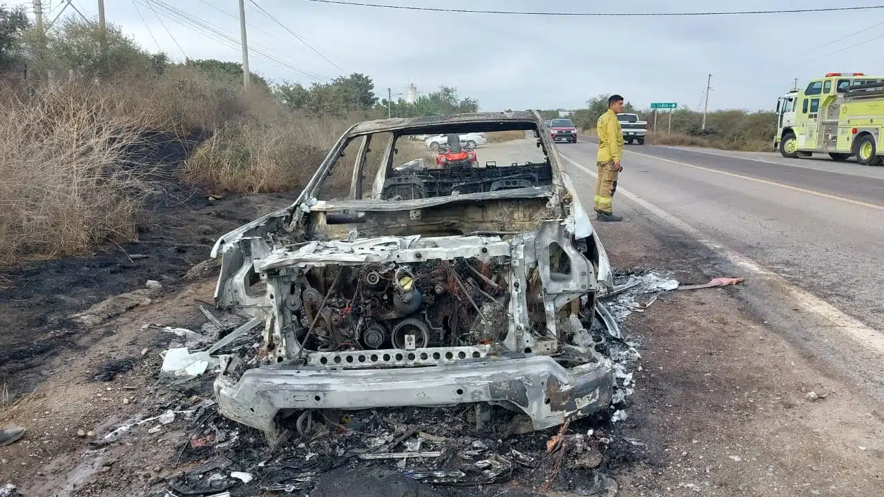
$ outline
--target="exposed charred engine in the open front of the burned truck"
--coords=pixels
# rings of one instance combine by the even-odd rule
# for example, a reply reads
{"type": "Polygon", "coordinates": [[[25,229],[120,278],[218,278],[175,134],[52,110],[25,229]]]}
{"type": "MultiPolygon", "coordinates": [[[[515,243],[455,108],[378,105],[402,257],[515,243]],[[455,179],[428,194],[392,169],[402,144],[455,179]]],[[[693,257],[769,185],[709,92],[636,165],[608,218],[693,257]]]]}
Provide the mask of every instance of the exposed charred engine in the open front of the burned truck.
{"type": "Polygon", "coordinates": [[[317,352],[491,344],[506,329],[507,272],[466,259],[315,267],[286,309],[317,352]]]}

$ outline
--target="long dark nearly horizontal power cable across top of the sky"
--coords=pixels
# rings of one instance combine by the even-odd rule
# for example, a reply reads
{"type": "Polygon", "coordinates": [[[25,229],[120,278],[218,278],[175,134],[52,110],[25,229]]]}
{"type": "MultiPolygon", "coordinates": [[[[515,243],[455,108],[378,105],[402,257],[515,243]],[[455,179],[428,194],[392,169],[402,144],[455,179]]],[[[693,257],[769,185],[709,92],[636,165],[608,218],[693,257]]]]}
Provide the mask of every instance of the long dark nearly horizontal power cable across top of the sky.
{"type": "MultiPolygon", "coordinates": [[[[251,1],[251,0],[250,0],[251,1]]],[[[414,7],[411,5],[363,4],[344,2],[342,0],[305,0],[317,4],[354,5],[359,7],[377,7],[382,9],[399,9],[402,11],[461,12],[469,14],[507,14],[525,16],[582,16],[582,17],[683,17],[683,16],[735,16],[758,14],[794,14],[804,12],[834,11],[867,11],[884,9],[884,5],[865,5],[857,7],[827,7],[820,9],[783,9],[777,11],[705,11],[705,12],[548,12],[548,11],[480,11],[474,9],[442,9],[438,7],[414,7]]],[[[252,2],[254,4],[254,2],[252,2]]]]}

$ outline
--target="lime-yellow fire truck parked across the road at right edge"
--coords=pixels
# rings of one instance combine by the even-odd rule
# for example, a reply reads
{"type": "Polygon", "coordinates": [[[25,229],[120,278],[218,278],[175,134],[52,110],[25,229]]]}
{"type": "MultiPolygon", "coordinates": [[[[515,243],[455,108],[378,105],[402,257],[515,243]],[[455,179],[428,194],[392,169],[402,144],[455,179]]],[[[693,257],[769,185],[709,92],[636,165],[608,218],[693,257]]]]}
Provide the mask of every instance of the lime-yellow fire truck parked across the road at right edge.
{"type": "Polygon", "coordinates": [[[834,160],[884,164],[884,76],[827,73],[777,103],[773,148],[783,157],[827,153],[834,160]]]}

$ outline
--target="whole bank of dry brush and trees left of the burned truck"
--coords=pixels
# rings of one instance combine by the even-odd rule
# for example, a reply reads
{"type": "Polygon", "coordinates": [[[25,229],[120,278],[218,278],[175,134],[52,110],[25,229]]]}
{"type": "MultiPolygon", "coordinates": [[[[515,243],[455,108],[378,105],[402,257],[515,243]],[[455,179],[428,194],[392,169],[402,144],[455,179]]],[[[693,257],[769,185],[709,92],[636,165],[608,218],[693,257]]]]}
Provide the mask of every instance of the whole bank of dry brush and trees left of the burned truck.
{"type": "Polygon", "coordinates": [[[293,191],[354,122],[478,110],[450,87],[388,110],[358,73],[308,87],[251,74],[245,90],[238,63],[174,63],[110,24],[104,52],[99,40],[95,21],[39,34],[24,7],[0,6],[0,265],[135,240],[172,180],[293,191]],[[170,168],[145,152],[157,137],[199,146],[170,168]]]}

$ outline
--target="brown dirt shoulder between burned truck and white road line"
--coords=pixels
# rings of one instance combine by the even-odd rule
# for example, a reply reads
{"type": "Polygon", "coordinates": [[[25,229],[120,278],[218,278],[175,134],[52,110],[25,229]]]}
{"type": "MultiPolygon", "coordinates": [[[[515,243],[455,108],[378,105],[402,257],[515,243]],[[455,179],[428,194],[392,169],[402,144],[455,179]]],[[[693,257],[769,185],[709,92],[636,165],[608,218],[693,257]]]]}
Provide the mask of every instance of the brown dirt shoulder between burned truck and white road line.
{"type": "MultiPolygon", "coordinates": [[[[654,218],[602,225],[616,267],[712,277],[717,256],[654,218]]],[[[884,410],[751,315],[752,281],[664,295],[634,314],[643,340],[623,436],[644,460],[616,478],[623,495],[876,495],[884,478],[884,410]],[[825,396],[816,401],[807,394],[825,396]]]]}

